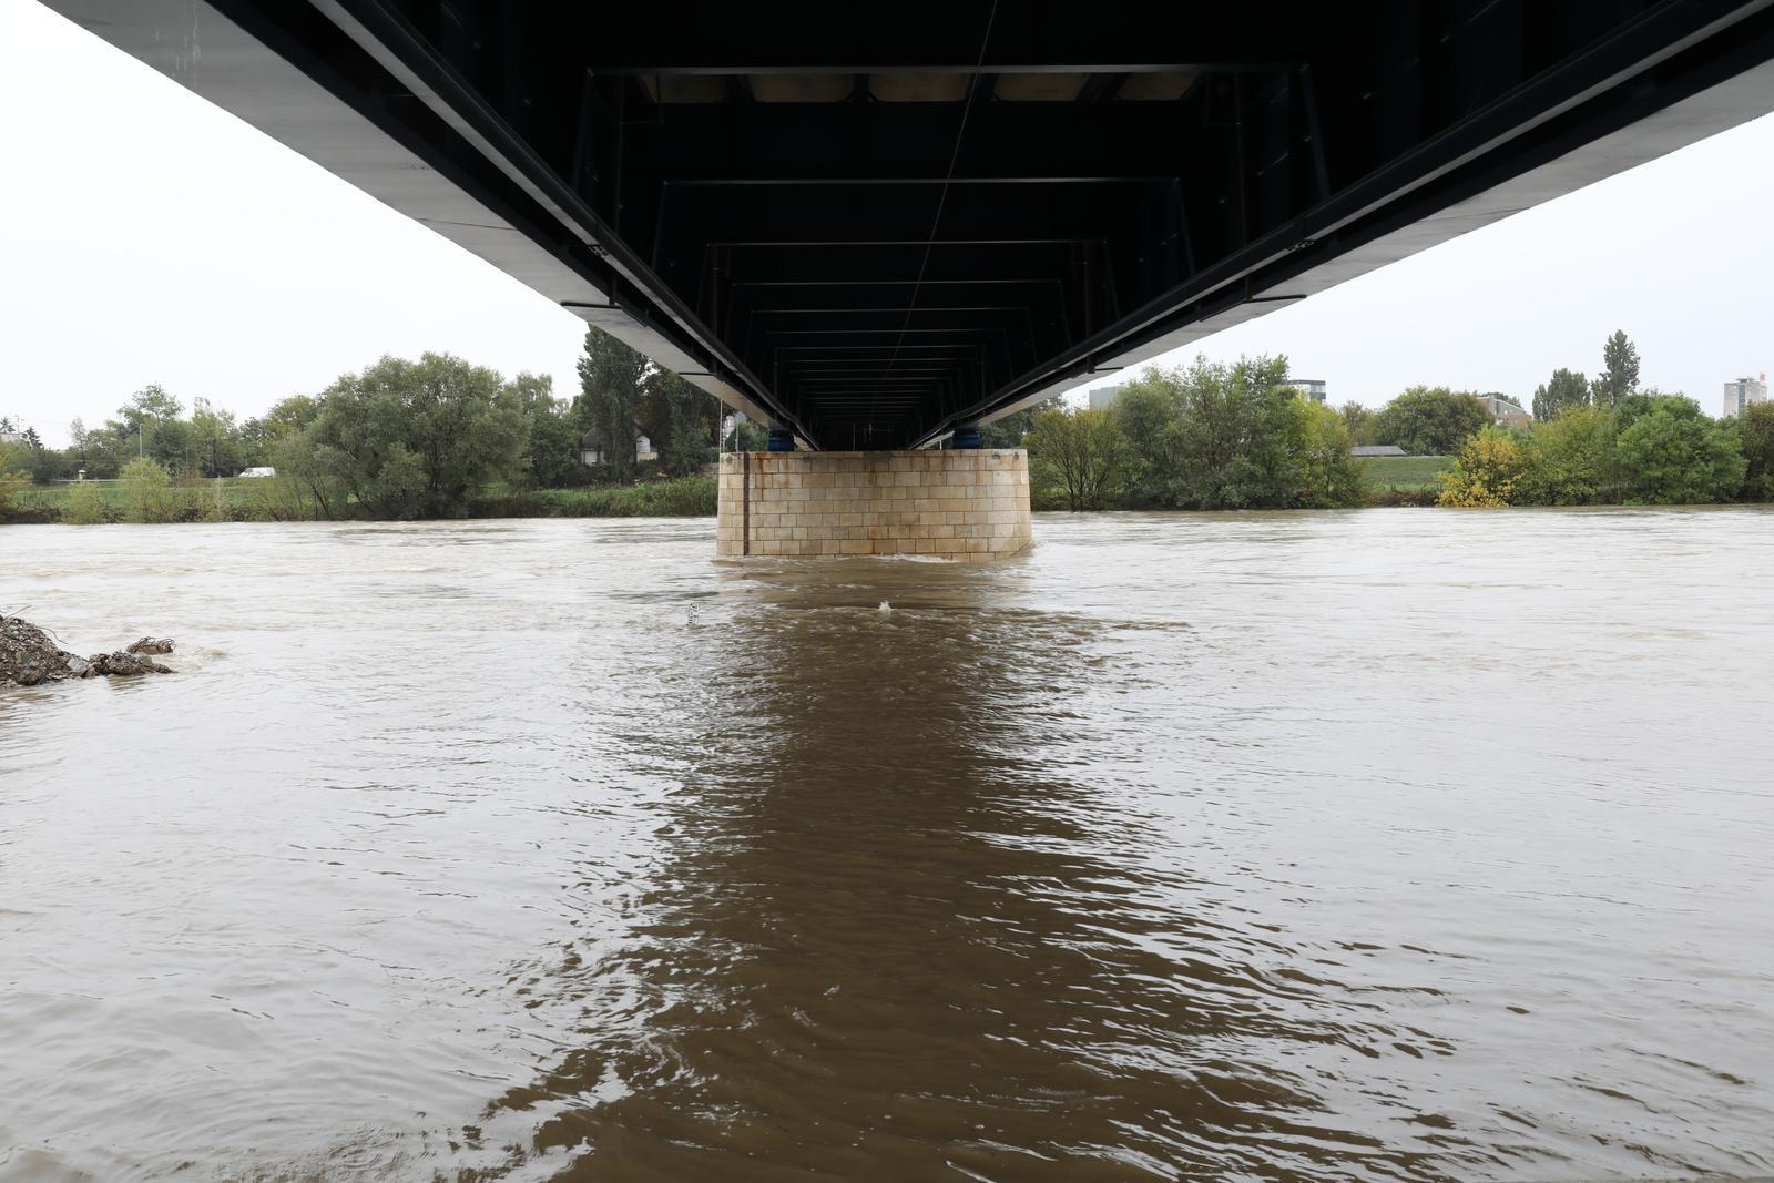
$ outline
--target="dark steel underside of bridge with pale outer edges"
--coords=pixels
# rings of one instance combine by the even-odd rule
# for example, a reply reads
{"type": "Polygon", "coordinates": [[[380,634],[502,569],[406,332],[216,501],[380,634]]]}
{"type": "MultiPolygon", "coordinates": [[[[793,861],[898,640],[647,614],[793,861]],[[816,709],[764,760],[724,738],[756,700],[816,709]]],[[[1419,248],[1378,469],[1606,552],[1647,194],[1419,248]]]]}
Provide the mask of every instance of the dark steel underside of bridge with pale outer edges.
{"type": "Polygon", "coordinates": [[[51,7],[825,449],[928,443],[1774,106],[1769,0],[51,7]]]}

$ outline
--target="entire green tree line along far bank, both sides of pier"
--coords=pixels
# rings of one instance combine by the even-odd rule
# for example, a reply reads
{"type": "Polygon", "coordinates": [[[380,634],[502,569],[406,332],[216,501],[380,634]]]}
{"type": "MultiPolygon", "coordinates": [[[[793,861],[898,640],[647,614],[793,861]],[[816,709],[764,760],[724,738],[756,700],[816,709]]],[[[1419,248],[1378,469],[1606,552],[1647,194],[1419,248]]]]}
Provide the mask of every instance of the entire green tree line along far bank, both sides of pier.
{"type": "MultiPolygon", "coordinates": [[[[1148,369],[1103,410],[1057,401],[983,427],[1025,447],[1036,509],[1302,509],[1366,504],[1593,505],[1774,498],[1774,404],[1726,422],[1639,390],[1625,333],[1593,381],[1558,371],[1526,426],[1446,387],[1332,410],[1288,385],[1286,358],[1148,369]],[[1357,443],[1449,458],[1433,488],[1382,488],[1357,443]]],[[[381,358],[316,396],[236,420],[160,387],[115,419],[0,443],[0,520],[229,521],[715,513],[717,452],[763,447],[708,394],[593,328],[580,392],[459,358],[381,358]],[[729,427],[727,438],[718,433],[729,427]],[[635,436],[658,445],[642,459],[635,436]],[[587,465],[585,458],[596,463],[587,465]],[[275,477],[229,479],[248,468],[275,477]],[[75,474],[85,481],[67,482],[75,474]]],[[[1440,463],[1440,461],[1432,461],[1440,463]]]]}

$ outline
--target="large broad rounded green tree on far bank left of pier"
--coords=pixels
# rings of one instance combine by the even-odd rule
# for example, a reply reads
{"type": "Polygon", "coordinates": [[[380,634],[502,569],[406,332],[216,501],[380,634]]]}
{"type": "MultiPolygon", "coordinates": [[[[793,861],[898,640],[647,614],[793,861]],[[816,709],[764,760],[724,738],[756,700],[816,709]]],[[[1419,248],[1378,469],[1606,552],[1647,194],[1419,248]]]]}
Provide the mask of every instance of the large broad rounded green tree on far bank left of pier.
{"type": "MultiPolygon", "coordinates": [[[[318,497],[337,482],[369,516],[456,516],[486,482],[518,475],[529,424],[500,388],[493,371],[449,355],[385,356],[328,387],[303,447],[280,454],[318,497]]],[[[339,509],[334,498],[325,513],[339,509]]]]}

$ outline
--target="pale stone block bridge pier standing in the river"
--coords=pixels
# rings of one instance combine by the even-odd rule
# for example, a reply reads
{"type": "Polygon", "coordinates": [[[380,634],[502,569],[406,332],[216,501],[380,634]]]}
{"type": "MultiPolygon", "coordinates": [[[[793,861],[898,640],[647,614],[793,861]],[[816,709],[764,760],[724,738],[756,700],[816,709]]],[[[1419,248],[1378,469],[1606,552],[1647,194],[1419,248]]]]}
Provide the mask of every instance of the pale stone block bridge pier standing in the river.
{"type": "Polygon", "coordinates": [[[933,555],[985,560],[1029,544],[1029,454],[729,452],[720,555],[933,555]]]}

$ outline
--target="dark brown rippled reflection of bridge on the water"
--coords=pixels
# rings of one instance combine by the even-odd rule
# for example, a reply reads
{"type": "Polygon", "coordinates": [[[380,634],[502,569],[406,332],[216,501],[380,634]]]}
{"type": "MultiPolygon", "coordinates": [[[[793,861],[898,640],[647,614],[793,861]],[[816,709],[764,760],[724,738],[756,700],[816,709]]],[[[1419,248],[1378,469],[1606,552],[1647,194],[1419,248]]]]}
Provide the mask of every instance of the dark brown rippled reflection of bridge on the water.
{"type": "Polygon", "coordinates": [[[619,936],[593,908],[514,967],[513,1004],[575,1034],[486,1128],[566,1178],[747,1183],[1419,1178],[1435,1137],[1464,1144],[1394,1128],[1446,1039],[1249,922],[1221,835],[1128,811],[1121,777],[1150,768],[1079,763],[1077,718],[1103,717],[1079,699],[1139,674],[1080,683],[1116,623],[1038,610],[1008,571],[883,564],[866,596],[830,568],[731,571],[752,607],[694,665],[635,672],[649,699],[703,688],[706,740],[630,738],[623,775],[681,779],[663,855],[619,936]]]}

